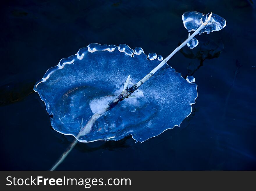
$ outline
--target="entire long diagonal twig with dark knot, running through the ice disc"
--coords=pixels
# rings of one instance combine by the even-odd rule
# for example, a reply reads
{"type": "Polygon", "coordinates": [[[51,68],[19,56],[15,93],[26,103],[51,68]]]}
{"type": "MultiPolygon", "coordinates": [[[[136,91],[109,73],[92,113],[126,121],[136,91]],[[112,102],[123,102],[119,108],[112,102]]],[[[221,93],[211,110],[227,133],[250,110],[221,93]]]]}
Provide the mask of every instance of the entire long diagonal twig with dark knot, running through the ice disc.
{"type": "Polygon", "coordinates": [[[60,165],[63,160],[66,158],[66,156],[70,153],[70,151],[75,147],[75,145],[78,142],[79,137],[86,135],[88,132],[90,132],[93,124],[95,121],[102,116],[105,112],[108,110],[111,110],[113,107],[115,107],[120,101],[124,100],[127,97],[134,97],[131,95],[135,90],[137,90],[145,81],[147,81],[149,78],[151,78],[157,70],[159,70],[165,63],[167,63],[170,58],[173,57],[175,53],[177,53],[182,47],[184,47],[195,35],[197,35],[211,20],[211,15],[209,15],[208,19],[191,35],[187,40],[185,40],[179,47],[177,47],[172,53],[170,53],[169,56],[167,56],[166,59],[164,59],[157,67],[155,67],[149,74],[147,74],[144,78],[142,78],[138,83],[134,84],[131,88],[128,89],[128,84],[130,81],[130,75],[128,76],[127,80],[125,81],[123,91],[121,94],[119,94],[116,99],[111,101],[106,108],[104,108],[102,111],[99,111],[95,113],[90,120],[87,122],[86,126],[81,128],[79,131],[79,134],[77,135],[76,139],[70,144],[70,146],[66,149],[66,151],[61,155],[61,157],[56,161],[56,163],[51,167],[50,170],[55,170],[58,165],[60,165]]]}

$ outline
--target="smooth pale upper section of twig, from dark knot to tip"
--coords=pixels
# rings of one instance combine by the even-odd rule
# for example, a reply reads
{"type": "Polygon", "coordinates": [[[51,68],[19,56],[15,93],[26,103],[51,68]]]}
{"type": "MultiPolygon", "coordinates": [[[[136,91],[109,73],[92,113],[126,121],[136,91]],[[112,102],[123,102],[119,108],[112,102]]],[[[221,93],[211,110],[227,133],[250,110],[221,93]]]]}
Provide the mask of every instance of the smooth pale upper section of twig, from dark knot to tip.
{"type": "Polygon", "coordinates": [[[136,86],[136,88],[138,89],[143,83],[145,83],[145,81],[151,78],[154,75],[154,73],[157,72],[157,70],[159,70],[165,63],[167,63],[167,61],[170,60],[170,58],[172,58],[175,53],[182,49],[182,47],[184,47],[195,35],[197,35],[208,24],[208,22],[211,20],[211,15],[212,13],[209,15],[208,19],[192,35],[190,35],[189,38],[187,38],[187,40],[185,40],[172,53],[170,53],[169,56],[167,56],[166,59],[164,59],[159,65],[157,65],[157,67],[155,67],[150,73],[148,73],[147,76],[138,81],[138,83],[134,84],[134,86],[136,86]]]}

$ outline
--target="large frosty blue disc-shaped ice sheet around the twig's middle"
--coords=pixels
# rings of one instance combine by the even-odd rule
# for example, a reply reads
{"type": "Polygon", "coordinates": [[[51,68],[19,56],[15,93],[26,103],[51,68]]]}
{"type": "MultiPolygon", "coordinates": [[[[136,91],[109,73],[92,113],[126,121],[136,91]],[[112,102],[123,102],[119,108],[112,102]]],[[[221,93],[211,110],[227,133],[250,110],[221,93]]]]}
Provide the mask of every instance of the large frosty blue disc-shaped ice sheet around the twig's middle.
{"type": "MultiPolygon", "coordinates": [[[[63,58],[38,81],[34,90],[45,102],[52,127],[63,134],[78,135],[90,117],[122,91],[130,75],[137,83],[162,60],[139,47],[125,44],[90,44],[76,55],[63,58]]],[[[166,129],[179,126],[190,115],[197,85],[189,83],[167,64],[112,110],[99,117],[80,142],[120,140],[131,134],[143,142],[166,129]]]]}

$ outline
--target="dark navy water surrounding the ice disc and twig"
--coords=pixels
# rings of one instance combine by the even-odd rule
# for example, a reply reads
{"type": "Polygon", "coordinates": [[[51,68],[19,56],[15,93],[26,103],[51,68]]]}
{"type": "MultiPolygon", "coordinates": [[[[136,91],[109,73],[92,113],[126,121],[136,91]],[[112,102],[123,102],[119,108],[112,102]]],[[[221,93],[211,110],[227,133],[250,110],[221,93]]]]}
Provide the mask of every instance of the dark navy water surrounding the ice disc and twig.
{"type": "Polygon", "coordinates": [[[61,58],[90,43],[127,44],[163,57],[188,31],[188,10],[214,12],[227,26],[198,35],[169,62],[193,74],[198,98],[172,130],[136,143],[79,143],[59,170],[256,170],[256,2],[8,1],[1,5],[1,170],[48,170],[73,138],[51,128],[33,85],[61,58]],[[205,45],[204,45],[205,44],[205,45]],[[201,48],[201,49],[200,49],[201,48]]]}

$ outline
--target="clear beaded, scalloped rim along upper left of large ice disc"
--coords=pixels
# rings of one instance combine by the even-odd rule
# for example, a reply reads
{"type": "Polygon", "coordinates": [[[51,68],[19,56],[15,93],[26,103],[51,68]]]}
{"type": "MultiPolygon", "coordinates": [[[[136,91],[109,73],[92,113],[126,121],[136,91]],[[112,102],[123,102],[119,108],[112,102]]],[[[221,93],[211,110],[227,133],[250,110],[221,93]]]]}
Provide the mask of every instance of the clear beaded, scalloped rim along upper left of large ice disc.
{"type": "MultiPolygon", "coordinates": [[[[136,47],[133,50],[129,46],[127,46],[126,44],[120,44],[117,47],[113,44],[111,44],[111,45],[107,45],[107,44],[101,45],[101,44],[97,44],[97,43],[91,43],[87,47],[79,49],[79,51],[75,55],[72,55],[68,58],[62,58],[57,66],[54,66],[54,67],[51,67],[50,69],[48,69],[47,72],[45,72],[45,75],[43,76],[43,78],[35,84],[34,91],[37,92],[36,89],[37,89],[38,84],[40,84],[42,82],[45,82],[55,70],[63,69],[66,64],[74,64],[74,61],[75,61],[76,58],[79,59],[79,60],[82,60],[83,56],[84,56],[84,53],[86,51],[88,51],[90,53],[93,53],[95,51],[113,52],[113,51],[115,51],[115,49],[118,49],[118,51],[123,52],[123,53],[125,53],[125,54],[127,54],[131,57],[134,57],[134,55],[140,55],[140,56],[145,55],[143,49],[140,48],[140,47],[136,47]]],[[[154,59],[158,59],[159,61],[163,60],[163,57],[161,55],[157,56],[156,53],[149,53],[148,56],[145,55],[144,57],[145,57],[145,59],[148,59],[148,60],[154,60],[154,59]]]]}

